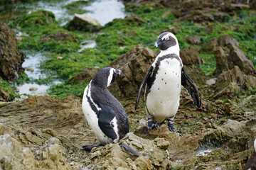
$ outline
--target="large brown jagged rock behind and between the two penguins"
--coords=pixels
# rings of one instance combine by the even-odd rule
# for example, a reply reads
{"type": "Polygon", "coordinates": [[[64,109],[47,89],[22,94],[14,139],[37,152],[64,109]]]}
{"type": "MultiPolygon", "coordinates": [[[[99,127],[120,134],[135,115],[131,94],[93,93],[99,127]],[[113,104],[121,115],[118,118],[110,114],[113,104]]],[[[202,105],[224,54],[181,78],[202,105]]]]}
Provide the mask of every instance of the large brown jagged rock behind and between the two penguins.
{"type": "Polygon", "coordinates": [[[136,96],[155,57],[156,54],[151,49],[137,45],[117,60],[112,61],[107,67],[121,69],[122,74],[110,86],[110,92],[116,97],[136,96]]]}

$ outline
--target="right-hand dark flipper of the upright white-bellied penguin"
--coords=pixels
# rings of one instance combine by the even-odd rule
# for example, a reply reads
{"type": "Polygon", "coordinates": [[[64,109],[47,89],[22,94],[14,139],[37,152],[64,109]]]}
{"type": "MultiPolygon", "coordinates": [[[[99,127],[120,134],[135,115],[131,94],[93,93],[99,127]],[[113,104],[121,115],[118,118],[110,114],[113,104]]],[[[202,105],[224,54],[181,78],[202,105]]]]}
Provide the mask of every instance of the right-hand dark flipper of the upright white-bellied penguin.
{"type": "Polygon", "coordinates": [[[193,98],[195,105],[198,108],[200,108],[201,96],[199,94],[199,91],[196,87],[196,84],[193,82],[193,80],[190,77],[188,77],[188,74],[186,74],[183,67],[181,69],[181,85],[188,90],[188,93],[191,95],[191,98],[193,98]]]}

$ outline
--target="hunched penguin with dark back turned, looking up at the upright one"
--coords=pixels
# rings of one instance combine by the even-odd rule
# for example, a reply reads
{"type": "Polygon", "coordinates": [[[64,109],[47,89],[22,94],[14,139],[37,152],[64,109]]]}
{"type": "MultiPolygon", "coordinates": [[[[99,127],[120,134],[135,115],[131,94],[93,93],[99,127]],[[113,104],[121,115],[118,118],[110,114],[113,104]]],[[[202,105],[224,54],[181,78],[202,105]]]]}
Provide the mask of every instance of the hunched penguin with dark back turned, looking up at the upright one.
{"type": "Polygon", "coordinates": [[[84,145],[90,152],[93,147],[117,143],[129,132],[129,122],[124,107],[114,98],[110,86],[122,71],[107,67],[100,69],[85,88],[82,98],[82,112],[87,123],[100,141],[99,145],[84,145]]]}

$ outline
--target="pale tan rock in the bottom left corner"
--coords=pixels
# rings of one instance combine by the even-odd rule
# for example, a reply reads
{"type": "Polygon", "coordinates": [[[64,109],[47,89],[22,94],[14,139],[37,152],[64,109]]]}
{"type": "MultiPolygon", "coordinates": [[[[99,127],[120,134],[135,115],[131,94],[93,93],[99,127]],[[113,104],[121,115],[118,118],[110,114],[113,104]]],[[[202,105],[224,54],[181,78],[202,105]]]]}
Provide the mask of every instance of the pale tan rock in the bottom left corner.
{"type": "Polygon", "coordinates": [[[36,169],[36,160],[31,150],[10,135],[0,135],[0,146],[1,169],[36,169]]]}

